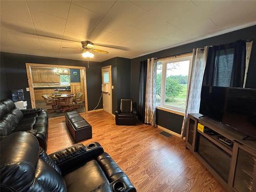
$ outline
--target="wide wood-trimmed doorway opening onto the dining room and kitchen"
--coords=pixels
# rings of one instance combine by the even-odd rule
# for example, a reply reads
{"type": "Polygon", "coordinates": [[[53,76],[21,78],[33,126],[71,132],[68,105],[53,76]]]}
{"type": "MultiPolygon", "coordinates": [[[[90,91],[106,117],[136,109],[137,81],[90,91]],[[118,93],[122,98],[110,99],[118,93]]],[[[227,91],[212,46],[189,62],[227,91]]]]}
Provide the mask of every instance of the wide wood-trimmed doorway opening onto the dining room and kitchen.
{"type": "Polygon", "coordinates": [[[44,109],[49,118],[88,111],[84,67],[26,63],[26,68],[32,108],[44,109]]]}

